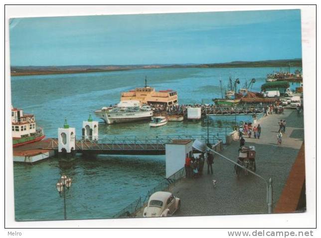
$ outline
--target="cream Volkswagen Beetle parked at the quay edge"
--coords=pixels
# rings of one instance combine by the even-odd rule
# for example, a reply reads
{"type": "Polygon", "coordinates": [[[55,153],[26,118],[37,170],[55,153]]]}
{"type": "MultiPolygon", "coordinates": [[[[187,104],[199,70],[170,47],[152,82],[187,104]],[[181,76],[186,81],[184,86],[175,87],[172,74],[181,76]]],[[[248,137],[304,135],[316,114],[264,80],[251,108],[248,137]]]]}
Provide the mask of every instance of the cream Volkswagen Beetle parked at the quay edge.
{"type": "Polygon", "coordinates": [[[167,217],[180,208],[180,199],[169,192],[153,193],[144,209],[143,217],[167,217]]]}

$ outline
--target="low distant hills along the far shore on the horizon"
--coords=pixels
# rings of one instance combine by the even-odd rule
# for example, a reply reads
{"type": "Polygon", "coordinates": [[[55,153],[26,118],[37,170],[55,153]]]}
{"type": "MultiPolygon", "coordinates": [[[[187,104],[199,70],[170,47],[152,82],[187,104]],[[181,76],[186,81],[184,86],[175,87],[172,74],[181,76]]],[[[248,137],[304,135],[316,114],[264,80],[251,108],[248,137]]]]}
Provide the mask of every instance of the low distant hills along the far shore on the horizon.
{"type": "Polygon", "coordinates": [[[70,66],[11,66],[11,76],[41,74],[71,74],[158,68],[241,68],[241,67],[302,67],[302,59],[233,61],[215,64],[150,64],[150,65],[70,65],[70,66]]]}

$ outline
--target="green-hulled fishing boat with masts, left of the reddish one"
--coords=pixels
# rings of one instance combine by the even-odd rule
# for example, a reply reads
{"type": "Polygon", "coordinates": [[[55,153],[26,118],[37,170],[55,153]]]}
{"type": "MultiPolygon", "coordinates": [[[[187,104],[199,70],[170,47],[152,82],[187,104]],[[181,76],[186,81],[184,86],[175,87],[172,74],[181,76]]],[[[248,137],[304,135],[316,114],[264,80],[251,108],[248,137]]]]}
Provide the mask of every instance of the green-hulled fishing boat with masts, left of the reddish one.
{"type": "Polygon", "coordinates": [[[221,88],[221,99],[213,99],[213,102],[215,103],[216,106],[235,106],[239,104],[240,99],[235,98],[235,91],[236,91],[236,86],[239,84],[240,81],[239,79],[236,79],[234,81],[234,84],[232,83],[231,77],[229,78],[229,86],[228,89],[225,90],[224,93],[224,98],[223,98],[223,90],[222,90],[222,81],[220,80],[220,88],[221,88]]]}

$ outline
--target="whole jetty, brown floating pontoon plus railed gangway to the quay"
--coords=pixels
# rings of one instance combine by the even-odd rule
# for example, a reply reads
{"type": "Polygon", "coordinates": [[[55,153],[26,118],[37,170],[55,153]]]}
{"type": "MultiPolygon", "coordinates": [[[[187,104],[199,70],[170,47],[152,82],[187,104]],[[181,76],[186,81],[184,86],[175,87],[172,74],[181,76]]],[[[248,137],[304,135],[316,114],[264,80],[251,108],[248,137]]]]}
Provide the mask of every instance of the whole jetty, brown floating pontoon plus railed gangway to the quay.
{"type": "MultiPolygon", "coordinates": [[[[101,136],[99,139],[79,139],[75,141],[75,152],[84,154],[122,154],[122,155],[163,155],[165,144],[173,140],[206,140],[211,144],[223,140],[226,132],[203,135],[159,135],[159,136],[101,136]]],[[[23,156],[20,162],[36,162],[32,156],[57,155],[58,139],[42,141],[13,148],[13,156],[23,156]]],[[[47,158],[46,157],[46,158],[47,158]]],[[[19,161],[17,161],[19,162],[19,161]]]]}

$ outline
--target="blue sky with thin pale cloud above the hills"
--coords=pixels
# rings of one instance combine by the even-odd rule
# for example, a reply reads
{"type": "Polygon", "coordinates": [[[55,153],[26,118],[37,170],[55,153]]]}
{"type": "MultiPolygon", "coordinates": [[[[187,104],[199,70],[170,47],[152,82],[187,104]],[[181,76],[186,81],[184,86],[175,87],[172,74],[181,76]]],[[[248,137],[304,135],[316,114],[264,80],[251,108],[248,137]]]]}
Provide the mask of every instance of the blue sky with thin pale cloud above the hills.
{"type": "Polygon", "coordinates": [[[11,18],[9,40],[11,66],[302,58],[300,10],[11,18]]]}

